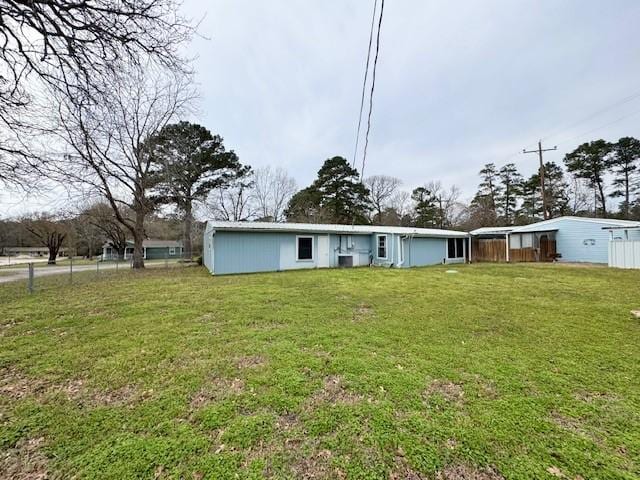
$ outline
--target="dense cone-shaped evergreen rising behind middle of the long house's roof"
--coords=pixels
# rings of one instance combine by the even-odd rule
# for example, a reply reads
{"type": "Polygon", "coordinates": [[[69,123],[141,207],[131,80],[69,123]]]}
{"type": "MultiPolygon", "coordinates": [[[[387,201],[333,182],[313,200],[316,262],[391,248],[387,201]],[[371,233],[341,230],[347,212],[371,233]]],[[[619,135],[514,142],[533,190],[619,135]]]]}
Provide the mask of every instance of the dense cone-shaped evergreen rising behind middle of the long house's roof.
{"type": "Polygon", "coordinates": [[[339,224],[367,223],[371,210],[369,189],[359,181],[358,171],[343,157],[329,158],[318,170],[311,186],[296,193],[289,202],[287,219],[339,224]]]}

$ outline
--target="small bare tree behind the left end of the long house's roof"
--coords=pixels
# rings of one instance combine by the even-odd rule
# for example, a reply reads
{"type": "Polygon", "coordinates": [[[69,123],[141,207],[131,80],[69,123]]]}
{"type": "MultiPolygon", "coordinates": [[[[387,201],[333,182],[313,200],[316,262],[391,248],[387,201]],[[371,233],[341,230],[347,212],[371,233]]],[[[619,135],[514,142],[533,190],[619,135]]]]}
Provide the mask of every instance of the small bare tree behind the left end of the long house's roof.
{"type": "Polygon", "coordinates": [[[205,210],[216,220],[241,222],[255,216],[254,202],[251,183],[240,181],[231,187],[214,189],[205,210]]]}

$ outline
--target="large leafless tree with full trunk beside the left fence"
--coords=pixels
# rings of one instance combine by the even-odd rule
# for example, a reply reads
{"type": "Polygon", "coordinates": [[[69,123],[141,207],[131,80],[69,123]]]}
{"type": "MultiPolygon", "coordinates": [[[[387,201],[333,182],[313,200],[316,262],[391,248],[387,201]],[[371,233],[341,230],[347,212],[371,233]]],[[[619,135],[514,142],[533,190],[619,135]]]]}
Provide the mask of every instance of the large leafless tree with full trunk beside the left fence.
{"type": "Polygon", "coordinates": [[[53,132],[67,153],[57,173],[106,199],[133,238],[133,268],[144,268],[144,221],[156,207],[149,195],[157,181],[152,139],[188,110],[195,97],[188,80],[152,65],[144,71],[134,66],[97,101],[59,98],[53,132]]]}

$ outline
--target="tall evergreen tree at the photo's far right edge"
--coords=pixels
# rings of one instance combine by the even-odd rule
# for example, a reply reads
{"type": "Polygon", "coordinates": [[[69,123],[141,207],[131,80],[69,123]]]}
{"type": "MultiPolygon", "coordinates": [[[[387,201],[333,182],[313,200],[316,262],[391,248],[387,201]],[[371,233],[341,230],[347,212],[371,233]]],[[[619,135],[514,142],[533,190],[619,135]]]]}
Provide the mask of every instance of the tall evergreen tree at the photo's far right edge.
{"type": "Polygon", "coordinates": [[[624,218],[629,218],[633,196],[638,190],[634,182],[638,172],[640,161],[640,140],[633,137],[623,137],[613,145],[611,166],[615,178],[613,185],[616,188],[609,196],[622,197],[620,213],[624,218]]]}

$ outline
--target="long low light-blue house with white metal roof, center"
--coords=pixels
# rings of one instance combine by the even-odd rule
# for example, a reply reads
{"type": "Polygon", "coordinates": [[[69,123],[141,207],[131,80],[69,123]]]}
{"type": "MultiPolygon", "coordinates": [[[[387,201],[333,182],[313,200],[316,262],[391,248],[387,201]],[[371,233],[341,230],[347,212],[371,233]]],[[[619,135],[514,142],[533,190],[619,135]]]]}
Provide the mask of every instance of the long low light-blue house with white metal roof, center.
{"type": "Polygon", "coordinates": [[[211,273],[380,265],[416,267],[467,260],[468,233],[370,225],[207,222],[203,263],[211,273]]]}

